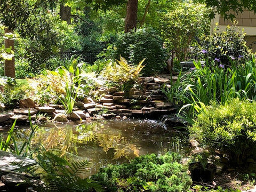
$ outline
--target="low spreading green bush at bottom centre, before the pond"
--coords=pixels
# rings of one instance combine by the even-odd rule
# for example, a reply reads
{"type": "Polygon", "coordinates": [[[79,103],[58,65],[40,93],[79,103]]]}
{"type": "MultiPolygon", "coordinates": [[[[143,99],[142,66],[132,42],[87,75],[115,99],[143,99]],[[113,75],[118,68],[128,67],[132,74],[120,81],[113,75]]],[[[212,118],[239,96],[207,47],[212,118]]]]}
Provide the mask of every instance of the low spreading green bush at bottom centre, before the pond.
{"type": "Polygon", "coordinates": [[[176,153],[149,154],[136,157],[130,164],[108,165],[92,179],[106,191],[187,191],[191,179],[180,160],[176,153]]]}

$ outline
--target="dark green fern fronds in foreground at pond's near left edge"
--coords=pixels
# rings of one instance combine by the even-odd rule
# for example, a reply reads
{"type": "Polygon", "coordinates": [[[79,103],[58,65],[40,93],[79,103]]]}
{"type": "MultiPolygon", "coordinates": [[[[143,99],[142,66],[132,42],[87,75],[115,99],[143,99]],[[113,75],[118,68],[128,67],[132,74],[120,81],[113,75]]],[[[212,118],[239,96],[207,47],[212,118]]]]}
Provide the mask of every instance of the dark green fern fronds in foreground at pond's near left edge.
{"type": "MultiPolygon", "coordinates": [[[[44,181],[34,183],[37,191],[103,191],[102,187],[91,179],[82,179],[87,172],[88,162],[81,160],[69,163],[59,154],[41,151],[37,156],[39,175],[44,181]]],[[[33,173],[31,173],[33,174],[33,173]]],[[[35,173],[34,173],[35,174],[35,173]]],[[[38,175],[38,173],[36,173],[38,175]]]]}

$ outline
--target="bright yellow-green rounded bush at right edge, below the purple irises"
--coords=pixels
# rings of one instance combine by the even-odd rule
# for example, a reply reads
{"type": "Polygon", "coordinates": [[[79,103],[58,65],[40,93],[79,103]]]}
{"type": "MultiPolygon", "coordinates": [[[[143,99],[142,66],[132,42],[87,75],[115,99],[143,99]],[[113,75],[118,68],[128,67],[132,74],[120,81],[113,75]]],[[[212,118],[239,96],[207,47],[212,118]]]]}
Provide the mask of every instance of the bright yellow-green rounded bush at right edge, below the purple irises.
{"type": "Polygon", "coordinates": [[[189,132],[201,145],[219,149],[235,164],[255,157],[256,102],[233,99],[226,105],[212,104],[197,115],[189,132]]]}

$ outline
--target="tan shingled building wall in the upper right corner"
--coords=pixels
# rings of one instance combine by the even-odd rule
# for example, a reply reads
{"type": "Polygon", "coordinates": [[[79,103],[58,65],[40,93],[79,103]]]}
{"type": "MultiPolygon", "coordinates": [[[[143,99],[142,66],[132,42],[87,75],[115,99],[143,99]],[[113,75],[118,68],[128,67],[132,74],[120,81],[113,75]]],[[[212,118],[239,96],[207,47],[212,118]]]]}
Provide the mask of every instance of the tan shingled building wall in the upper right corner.
{"type": "MultiPolygon", "coordinates": [[[[236,22],[239,28],[243,28],[246,33],[247,46],[251,47],[252,52],[256,52],[256,14],[253,11],[244,10],[243,13],[236,14],[234,11],[230,11],[236,17],[236,22]]],[[[220,15],[215,15],[215,19],[211,23],[211,33],[215,28],[215,23],[218,22],[220,30],[226,30],[227,25],[232,25],[231,20],[225,20],[220,15]]]]}

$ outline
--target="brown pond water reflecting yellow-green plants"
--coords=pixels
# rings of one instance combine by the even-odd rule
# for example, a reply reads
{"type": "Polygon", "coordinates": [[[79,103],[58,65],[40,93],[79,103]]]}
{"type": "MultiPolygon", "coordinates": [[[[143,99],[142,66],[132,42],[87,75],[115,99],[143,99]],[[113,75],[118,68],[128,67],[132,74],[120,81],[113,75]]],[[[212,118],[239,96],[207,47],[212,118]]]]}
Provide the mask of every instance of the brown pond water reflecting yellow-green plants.
{"type": "MultiPolygon", "coordinates": [[[[15,137],[26,140],[29,131],[19,129],[15,137]]],[[[183,153],[187,147],[187,135],[172,131],[161,122],[145,119],[47,124],[36,131],[31,147],[38,145],[61,151],[63,156],[73,154],[73,158],[88,160],[88,174],[91,175],[102,166],[129,162],[140,155],[160,155],[167,151],[183,153]]]]}

